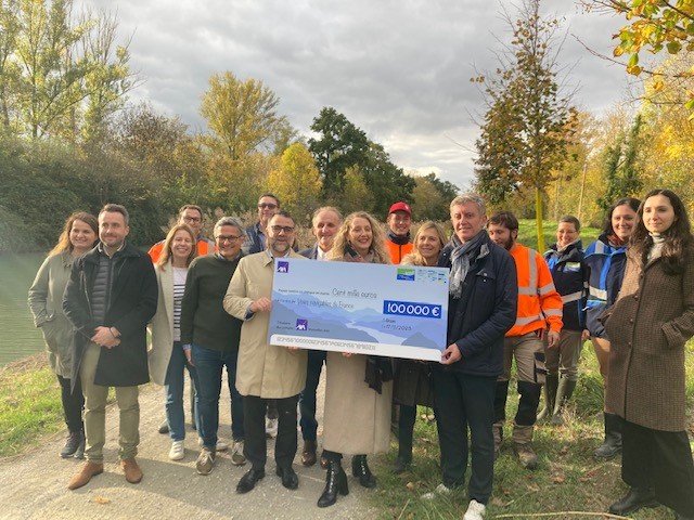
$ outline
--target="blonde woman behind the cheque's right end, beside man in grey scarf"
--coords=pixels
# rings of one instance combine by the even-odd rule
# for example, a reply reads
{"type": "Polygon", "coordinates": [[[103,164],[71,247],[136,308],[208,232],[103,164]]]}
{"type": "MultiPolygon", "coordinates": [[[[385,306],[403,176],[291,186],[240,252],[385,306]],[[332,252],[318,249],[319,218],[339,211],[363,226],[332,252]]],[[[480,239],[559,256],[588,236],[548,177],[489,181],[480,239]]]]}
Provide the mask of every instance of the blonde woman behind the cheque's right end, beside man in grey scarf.
{"type": "MultiPolygon", "coordinates": [[[[441,227],[432,221],[424,222],[414,235],[414,250],[406,255],[401,265],[437,266],[438,257],[448,240],[441,227]]],[[[395,360],[393,401],[400,405],[398,419],[398,457],[394,473],[401,473],[412,463],[412,433],[416,419],[416,406],[434,407],[430,386],[430,366],[415,360],[395,360]]]]}

